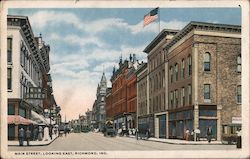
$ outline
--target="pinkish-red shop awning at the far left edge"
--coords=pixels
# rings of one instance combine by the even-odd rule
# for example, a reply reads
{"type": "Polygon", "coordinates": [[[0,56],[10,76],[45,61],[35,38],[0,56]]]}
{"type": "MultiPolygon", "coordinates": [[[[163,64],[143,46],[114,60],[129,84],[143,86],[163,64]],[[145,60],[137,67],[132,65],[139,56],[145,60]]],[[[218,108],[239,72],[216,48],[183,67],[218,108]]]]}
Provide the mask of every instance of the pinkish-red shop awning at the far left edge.
{"type": "Polygon", "coordinates": [[[37,124],[37,122],[32,121],[30,119],[26,119],[20,115],[8,115],[8,124],[30,125],[30,124],[37,124]]]}

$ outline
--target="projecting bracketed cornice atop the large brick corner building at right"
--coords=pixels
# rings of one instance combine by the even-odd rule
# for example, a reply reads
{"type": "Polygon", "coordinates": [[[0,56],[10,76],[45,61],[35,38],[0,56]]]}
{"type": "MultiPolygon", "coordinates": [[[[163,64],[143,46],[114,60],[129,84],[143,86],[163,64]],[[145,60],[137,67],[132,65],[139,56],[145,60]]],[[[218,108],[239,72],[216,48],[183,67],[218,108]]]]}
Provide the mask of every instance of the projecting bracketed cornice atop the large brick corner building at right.
{"type": "Polygon", "coordinates": [[[186,36],[189,32],[191,32],[194,29],[198,30],[217,30],[217,31],[223,31],[223,32],[235,32],[240,33],[241,32],[241,26],[240,25],[231,25],[231,24],[216,24],[216,23],[208,23],[208,22],[197,22],[197,21],[191,21],[189,24],[187,24],[180,32],[178,32],[171,40],[170,42],[165,46],[165,50],[172,47],[174,44],[176,44],[180,39],[182,39],[184,36],[186,36]]]}

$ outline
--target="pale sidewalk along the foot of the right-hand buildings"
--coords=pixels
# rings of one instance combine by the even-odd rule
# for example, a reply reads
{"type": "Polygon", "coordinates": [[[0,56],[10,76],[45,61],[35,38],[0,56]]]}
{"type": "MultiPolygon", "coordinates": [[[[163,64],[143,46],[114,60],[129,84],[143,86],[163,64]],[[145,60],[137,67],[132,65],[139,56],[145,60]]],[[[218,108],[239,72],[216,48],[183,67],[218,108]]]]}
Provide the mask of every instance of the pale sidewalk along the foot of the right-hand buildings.
{"type": "MultiPolygon", "coordinates": [[[[136,136],[130,135],[128,136],[130,138],[135,138],[136,136]]],[[[162,143],[168,143],[168,144],[178,144],[178,145],[222,145],[221,141],[211,141],[210,143],[208,143],[206,140],[202,140],[202,141],[186,141],[186,140],[180,140],[180,139],[162,139],[162,138],[148,138],[148,139],[140,139],[140,137],[138,138],[138,140],[145,140],[145,141],[154,141],[154,142],[162,142],[162,143]]]]}

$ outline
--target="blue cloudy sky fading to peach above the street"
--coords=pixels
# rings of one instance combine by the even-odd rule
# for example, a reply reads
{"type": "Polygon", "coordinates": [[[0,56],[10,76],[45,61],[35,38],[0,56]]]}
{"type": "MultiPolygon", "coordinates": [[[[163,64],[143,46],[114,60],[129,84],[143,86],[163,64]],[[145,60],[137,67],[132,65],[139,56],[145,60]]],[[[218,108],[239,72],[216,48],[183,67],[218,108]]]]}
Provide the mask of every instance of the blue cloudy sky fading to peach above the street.
{"type": "Polygon", "coordinates": [[[28,16],[34,35],[50,45],[53,94],[62,120],[77,119],[92,109],[97,85],[105,72],[108,86],[119,58],[136,54],[147,61],[144,48],[160,29],[182,29],[190,21],[241,24],[240,8],[160,8],[159,18],[143,27],[153,8],[9,9],[28,16]]]}

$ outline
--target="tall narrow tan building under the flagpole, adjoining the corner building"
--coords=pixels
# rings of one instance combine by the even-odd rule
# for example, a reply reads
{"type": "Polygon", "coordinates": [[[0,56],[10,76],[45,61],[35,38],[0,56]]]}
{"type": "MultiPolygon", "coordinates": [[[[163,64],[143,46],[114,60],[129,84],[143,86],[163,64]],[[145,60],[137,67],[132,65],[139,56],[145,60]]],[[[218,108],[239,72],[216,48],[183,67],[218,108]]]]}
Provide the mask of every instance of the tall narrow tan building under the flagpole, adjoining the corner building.
{"type": "Polygon", "coordinates": [[[150,131],[151,133],[153,132],[156,137],[160,138],[165,138],[167,135],[167,95],[164,47],[177,32],[176,30],[162,30],[144,49],[144,52],[148,54],[149,114],[154,115],[154,128],[150,131]]]}

